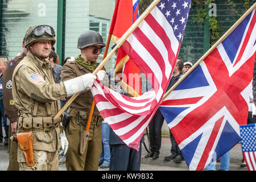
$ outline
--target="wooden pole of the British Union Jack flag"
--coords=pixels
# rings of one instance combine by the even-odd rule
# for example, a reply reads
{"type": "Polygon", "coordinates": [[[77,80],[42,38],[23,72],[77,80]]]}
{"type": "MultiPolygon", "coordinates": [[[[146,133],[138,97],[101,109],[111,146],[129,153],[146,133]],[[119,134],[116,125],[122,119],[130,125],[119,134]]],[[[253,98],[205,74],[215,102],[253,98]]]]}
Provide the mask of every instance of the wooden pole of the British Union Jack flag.
{"type": "Polygon", "coordinates": [[[191,67],[191,69],[188,70],[187,73],[185,73],[183,75],[183,77],[181,77],[169,90],[168,92],[166,92],[163,96],[163,99],[162,101],[172,92],[172,90],[174,90],[176,88],[177,85],[180,84],[181,81],[183,81],[188,75],[189,73],[191,73],[204,59],[205,57],[207,57],[209,55],[210,52],[213,51],[213,49],[215,49],[237,26],[238,24],[240,24],[245,18],[247,15],[249,15],[251,13],[251,11],[253,11],[256,7],[256,3],[254,3],[253,6],[250,7],[249,10],[246,11],[245,14],[243,14],[241,16],[240,19],[237,20],[236,23],[233,24],[232,27],[229,28],[228,31],[226,31],[226,33],[196,62],[196,64],[193,65],[193,67],[191,67]]]}

